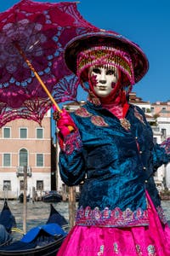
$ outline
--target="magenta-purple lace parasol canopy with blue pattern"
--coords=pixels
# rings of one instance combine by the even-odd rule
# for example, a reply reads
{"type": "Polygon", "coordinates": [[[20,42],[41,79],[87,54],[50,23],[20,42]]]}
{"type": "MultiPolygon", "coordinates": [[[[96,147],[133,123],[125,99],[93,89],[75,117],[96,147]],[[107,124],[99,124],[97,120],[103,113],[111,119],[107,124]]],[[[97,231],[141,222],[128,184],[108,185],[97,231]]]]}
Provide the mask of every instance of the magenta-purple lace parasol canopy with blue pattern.
{"type": "Polygon", "coordinates": [[[74,101],[77,77],[65,65],[65,44],[97,30],[82,18],[77,3],[21,0],[1,13],[0,127],[17,118],[40,123],[52,106],[20,49],[56,102],[74,101]]]}

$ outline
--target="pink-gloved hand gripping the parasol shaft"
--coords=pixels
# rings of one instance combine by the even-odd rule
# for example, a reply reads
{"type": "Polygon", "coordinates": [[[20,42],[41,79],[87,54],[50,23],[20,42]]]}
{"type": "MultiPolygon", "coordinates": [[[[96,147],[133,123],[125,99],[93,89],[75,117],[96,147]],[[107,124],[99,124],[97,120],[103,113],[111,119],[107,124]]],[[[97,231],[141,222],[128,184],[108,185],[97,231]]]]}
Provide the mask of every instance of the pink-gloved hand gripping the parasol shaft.
{"type": "Polygon", "coordinates": [[[53,113],[54,120],[57,122],[57,127],[59,129],[62,137],[69,135],[72,131],[76,130],[76,125],[71,119],[71,115],[66,112],[65,109],[62,112],[55,111],[53,113]]]}

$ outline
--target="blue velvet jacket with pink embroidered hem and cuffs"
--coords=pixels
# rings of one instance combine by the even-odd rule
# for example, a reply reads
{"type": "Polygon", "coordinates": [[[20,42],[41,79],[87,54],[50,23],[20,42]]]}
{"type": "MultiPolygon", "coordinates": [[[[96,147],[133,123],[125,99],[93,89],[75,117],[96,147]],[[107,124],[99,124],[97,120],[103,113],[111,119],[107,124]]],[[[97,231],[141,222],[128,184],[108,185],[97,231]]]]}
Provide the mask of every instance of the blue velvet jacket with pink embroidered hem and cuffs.
{"type": "Polygon", "coordinates": [[[71,117],[77,131],[65,138],[59,171],[69,186],[83,181],[77,224],[135,226],[148,224],[146,190],[156,208],[161,202],[153,172],[167,164],[165,149],[154,145],[143,111],[130,105],[130,129],[107,109],[87,102],[71,117]]]}

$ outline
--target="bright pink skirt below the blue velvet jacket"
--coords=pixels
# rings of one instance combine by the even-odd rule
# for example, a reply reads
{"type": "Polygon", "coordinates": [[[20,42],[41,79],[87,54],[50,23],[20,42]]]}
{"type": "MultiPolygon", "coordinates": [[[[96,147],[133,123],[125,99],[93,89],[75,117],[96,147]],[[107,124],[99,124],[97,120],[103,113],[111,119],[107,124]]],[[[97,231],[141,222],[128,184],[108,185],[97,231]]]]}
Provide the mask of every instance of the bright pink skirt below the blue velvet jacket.
{"type": "Polygon", "coordinates": [[[100,228],[74,226],[57,256],[170,256],[170,228],[147,195],[149,226],[100,228]]]}

